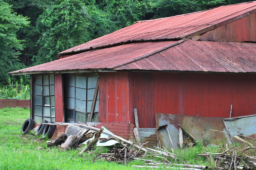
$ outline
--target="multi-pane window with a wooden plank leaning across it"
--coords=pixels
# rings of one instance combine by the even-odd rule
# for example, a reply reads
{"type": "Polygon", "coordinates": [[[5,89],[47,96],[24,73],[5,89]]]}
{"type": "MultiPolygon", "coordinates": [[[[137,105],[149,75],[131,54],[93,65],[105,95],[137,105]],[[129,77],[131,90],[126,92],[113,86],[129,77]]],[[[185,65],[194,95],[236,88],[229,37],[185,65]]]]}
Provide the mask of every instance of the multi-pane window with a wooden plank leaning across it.
{"type": "MultiPolygon", "coordinates": [[[[98,76],[65,77],[65,122],[89,122],[98,76]]],[[[99,95],[97,95],[92,122],[98,121],[99,95]]]]}

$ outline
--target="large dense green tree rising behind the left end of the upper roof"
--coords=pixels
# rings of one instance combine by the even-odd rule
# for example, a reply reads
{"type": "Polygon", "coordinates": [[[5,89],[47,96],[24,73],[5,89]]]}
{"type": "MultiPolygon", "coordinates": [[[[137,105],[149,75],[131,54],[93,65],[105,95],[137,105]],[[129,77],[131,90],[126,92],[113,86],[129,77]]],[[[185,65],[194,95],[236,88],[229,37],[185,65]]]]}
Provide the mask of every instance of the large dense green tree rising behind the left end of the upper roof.
{"type": "Polygon", "coordinates": [[[59,0],[38,18],[40,49],[33,58],[34,64],[50,62],[61,51],[115,31],[113,21],[108,18],[94,4],[59,0]]]}

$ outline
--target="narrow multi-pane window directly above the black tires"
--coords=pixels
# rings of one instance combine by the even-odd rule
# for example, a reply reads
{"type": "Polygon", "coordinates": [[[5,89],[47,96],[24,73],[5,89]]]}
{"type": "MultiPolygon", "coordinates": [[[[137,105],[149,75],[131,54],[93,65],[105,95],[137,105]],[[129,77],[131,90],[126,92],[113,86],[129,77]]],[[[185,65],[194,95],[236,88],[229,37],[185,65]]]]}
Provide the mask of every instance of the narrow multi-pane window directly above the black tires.
{"type": "Polygon", "coordinates": [[[34,76],[34,121],[55,122],[54,75],[34,76]]]}

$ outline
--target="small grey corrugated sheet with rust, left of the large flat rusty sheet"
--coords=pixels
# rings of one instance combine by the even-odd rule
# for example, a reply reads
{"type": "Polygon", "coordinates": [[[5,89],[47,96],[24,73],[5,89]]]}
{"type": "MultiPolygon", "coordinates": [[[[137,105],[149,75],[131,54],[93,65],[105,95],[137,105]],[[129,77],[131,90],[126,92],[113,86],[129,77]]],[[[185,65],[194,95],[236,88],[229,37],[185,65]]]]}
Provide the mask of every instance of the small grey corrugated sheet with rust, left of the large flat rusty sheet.
{"type": "Polygon", "coordinates": [[[156,128],[138,128],[141,144],[149,142],[145,145],[148,148],[157,146],[156,128]]]}

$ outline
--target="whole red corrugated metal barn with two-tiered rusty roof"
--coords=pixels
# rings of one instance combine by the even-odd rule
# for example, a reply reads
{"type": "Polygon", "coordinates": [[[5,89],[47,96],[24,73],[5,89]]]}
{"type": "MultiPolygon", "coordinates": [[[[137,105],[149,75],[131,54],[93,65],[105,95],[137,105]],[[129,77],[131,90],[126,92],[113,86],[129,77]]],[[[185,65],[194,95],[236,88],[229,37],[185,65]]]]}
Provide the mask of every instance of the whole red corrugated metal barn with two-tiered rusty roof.
{"type": "Polygon", "coordinates": [[[156,113],[256,114],[256,1],[131,26],[59,53],[31,74],[31,118],[156,128],[156,113]]]}

